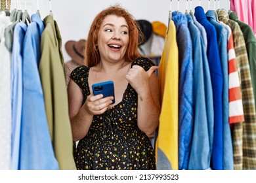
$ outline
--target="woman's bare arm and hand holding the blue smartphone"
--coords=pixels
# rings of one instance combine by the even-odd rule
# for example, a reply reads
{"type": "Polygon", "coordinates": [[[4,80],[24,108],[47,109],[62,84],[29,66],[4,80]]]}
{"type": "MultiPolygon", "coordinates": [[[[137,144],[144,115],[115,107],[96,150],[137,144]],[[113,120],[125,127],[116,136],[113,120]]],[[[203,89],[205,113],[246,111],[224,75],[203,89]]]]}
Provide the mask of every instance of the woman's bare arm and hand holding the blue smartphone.
{"type": "Polygon", "coordinates": [[[68,107],[72,127],[73,141],[79,141],[87,135],[93,115],[103,114],[113,97],[102,98],[103,95],[89,95],[83,104],[83,93],[74,80],[68,84],[68,107]]]}

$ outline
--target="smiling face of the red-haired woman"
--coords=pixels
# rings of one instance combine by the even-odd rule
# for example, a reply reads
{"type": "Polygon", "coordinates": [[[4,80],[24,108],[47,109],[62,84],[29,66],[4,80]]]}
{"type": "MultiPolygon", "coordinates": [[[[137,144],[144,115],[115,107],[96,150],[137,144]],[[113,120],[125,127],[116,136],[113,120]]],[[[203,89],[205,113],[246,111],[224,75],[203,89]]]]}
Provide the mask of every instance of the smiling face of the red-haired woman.
{"type": "Polygon", "coordinates": [[[129,42],[129,29],[125,18],[108,15],[98,31],[98,50],[101,61],[123,61],[129,42]]]}

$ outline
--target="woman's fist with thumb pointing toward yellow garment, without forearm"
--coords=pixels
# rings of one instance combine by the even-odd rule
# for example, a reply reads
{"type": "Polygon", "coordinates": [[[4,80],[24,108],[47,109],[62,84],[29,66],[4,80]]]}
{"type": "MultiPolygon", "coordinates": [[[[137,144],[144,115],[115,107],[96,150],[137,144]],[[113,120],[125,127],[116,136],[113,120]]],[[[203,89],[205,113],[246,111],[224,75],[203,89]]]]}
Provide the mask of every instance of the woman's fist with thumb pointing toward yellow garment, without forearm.
{"type": "Polygon", "coordinates": [[[145,71],[139,65],[133,65],[131,69],[129,69],[125,78],[128,80],[129,84],[135,89],[135,91],[140,94],[144,92],[146,88],[149,88],[149,78],[156,71],[159,69],[158,66],[152,66],[148,71],[145,71]]]}

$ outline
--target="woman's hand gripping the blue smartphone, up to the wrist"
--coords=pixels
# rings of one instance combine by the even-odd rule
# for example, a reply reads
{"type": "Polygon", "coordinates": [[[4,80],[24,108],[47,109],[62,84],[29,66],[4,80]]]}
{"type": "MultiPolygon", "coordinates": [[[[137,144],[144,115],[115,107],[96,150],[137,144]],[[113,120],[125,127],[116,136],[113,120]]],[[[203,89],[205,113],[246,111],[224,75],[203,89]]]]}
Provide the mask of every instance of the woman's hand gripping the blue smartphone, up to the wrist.
{"type": "Polygon", "coordinates": [[[102,94],[93,95],[92,93],[87,97],[83,108],[93,115],[103,114],[110,104],[114,97],[104,97],[102,94]]]}

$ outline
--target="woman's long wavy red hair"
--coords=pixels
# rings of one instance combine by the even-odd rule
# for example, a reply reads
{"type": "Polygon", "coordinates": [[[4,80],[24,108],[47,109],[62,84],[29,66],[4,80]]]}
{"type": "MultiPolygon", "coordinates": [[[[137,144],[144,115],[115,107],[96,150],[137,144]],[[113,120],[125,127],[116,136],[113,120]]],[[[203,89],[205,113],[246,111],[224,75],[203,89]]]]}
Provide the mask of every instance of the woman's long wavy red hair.
{"type": "Polygon", "coordinates": [[[85,46],[85,54],[86,60],[85,63],[88,67],[93,67],[100,62],[100,54],[98,52],[98,48],[96,47],[98,41],[98,31],[100,29],[100,25],[104,18],[108,15],[116,15],[119,17],[125,18],[128,27],[129,27],[129,44],[127,47],[127,51],[125,53],[126,61],[134,61],[135,59],[141,57],[138,46],[140,42],[144,39],[143,34],[139,28],[138,23],[135,21],[135,18],[124,8],[117,6],[106,8],[102,10],[93,20],[93,24],[91,25],[86,46],[85,46]]]}

